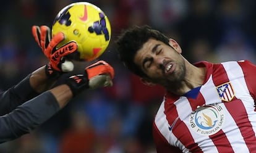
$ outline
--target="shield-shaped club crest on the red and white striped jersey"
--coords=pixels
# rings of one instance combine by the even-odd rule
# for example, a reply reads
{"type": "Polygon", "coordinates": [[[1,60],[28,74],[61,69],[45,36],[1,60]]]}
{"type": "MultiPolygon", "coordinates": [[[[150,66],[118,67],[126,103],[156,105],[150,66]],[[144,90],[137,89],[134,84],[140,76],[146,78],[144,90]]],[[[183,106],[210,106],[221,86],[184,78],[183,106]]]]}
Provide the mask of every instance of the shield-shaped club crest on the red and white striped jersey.
{"type": "Polygon", "coordinates": [[[234,97],[234,90],[230,82],[224,83],[223,85],[216,87],[217,92],[220,96],[220,99],[226,102],[229,102],[234,97]]]}

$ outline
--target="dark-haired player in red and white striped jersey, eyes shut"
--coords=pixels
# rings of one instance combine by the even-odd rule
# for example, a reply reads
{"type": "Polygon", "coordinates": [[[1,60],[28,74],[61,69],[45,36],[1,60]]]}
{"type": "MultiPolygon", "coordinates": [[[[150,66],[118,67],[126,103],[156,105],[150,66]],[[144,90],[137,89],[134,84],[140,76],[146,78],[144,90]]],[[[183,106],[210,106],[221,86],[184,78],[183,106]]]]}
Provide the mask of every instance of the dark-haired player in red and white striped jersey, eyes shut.
{"type": "Polygon", "coordinates": [[[157,152],[256,152],[256,65],[190,64],[174,39],[148,26],[124,31],[117,51],[143,83],[166,89],[153,122],[157,152]]]}

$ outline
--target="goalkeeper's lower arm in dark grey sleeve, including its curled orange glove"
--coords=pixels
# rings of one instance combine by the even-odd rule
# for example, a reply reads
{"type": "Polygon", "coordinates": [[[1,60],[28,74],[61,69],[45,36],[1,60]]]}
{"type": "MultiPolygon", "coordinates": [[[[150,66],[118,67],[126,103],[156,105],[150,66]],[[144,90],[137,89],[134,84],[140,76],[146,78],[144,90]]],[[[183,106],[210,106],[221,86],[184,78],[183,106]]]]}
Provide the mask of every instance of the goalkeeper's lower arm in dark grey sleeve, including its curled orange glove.
{"type": "Polygon", "coordinates": [[[65,107],[72,97],[84,89],[111,86],[113,77],[114,69],[106,62],[99,61],[85,68],[85,72],[82,75],[74,75],[62,85],[45,91],[18,106],[11,113],[0,117],[0,143],[11,141],[23,134],[30,133],[30,131],[56,114],[58,110],[65,107]]]}

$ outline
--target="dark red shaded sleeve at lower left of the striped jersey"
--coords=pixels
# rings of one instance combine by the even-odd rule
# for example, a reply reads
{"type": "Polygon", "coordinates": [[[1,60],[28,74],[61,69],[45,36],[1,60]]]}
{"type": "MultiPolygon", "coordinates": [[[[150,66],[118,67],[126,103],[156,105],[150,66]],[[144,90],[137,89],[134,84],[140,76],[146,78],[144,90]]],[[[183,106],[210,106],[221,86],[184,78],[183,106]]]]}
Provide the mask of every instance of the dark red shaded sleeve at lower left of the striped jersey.
{"type": "Polygon", "coordinates": [[[164,139],[163,135],[160,133],[160,131],[156,127],[155,122],[153,123],[153,138],[155,141],[157,153],[166,153],[166,152],[181,153],[182,152],[179,148],[171,146],[166,141],[166,139],[164,139]]]}

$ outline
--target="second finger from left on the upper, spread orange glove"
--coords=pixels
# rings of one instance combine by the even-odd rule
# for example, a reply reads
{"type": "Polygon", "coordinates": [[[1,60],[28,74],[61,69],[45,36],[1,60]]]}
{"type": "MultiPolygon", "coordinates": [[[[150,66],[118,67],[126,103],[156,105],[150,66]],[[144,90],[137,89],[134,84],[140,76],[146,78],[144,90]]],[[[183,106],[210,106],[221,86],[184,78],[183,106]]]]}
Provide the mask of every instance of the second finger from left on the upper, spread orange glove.
{"type": "Polygon", "coordinates": [[[51,40],[51,31],[50,28],[46,25],[42,25],[40,27],[41,35],[40,35],[40,44],[43,51],[47,48],[50,40],[51,40]]]}

